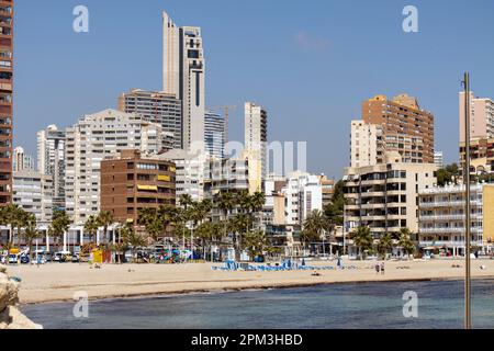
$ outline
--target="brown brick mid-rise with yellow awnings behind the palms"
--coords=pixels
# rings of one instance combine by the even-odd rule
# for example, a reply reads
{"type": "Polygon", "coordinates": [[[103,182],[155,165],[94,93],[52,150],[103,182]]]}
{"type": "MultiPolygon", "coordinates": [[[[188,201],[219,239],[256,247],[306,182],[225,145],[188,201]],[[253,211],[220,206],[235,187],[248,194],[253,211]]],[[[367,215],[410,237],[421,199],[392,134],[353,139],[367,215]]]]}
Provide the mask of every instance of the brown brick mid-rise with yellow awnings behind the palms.
{"type": "Polygon", "coordinates": [[[175,163],[158,157],[142,157],[138,150],[123,150],[101,161],[101,210],[116,222],[137,225],[141,208],[173,205],[175,163]]]}

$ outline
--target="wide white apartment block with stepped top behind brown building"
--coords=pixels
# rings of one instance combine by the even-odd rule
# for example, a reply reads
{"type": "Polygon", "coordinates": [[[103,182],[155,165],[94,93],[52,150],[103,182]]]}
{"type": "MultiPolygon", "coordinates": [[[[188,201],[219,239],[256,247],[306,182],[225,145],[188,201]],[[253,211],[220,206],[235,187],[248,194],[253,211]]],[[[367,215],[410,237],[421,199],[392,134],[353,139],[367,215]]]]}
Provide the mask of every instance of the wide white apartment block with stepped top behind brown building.
{"type": "Polygon", "coordinates": [[[126,149],[158,154],[166,132],[142,115],[105,110],[66,129],[66,207],[76,225],[100,211],[101,161],[126,149]]]}

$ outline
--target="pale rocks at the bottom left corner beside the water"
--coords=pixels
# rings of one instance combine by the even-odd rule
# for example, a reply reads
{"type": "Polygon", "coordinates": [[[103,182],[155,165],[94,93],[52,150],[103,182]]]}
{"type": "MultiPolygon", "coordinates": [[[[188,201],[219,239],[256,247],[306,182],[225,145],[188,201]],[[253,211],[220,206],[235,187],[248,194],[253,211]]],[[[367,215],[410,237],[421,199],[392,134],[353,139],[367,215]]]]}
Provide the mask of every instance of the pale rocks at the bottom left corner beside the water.
{"type": "Polygon", "coordinates": [[[18,293],[19,282],[10,279],[7,268],[0,265],[0,329],[43,329],[16,307],[18,293]]]}

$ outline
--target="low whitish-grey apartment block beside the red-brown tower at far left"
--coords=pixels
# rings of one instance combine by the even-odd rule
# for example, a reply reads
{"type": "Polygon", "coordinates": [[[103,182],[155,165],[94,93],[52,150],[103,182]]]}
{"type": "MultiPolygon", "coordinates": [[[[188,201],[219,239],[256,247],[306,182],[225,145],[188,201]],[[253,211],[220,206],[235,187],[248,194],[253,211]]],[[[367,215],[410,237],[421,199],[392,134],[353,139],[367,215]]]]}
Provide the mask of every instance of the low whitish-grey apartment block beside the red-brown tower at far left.
{"type": "Polygon", "coordinates": [[[34,214],[40,226],[52,222],[53,194],[52,176],[34,170],[13,172],[13,203],[34,214]]]}

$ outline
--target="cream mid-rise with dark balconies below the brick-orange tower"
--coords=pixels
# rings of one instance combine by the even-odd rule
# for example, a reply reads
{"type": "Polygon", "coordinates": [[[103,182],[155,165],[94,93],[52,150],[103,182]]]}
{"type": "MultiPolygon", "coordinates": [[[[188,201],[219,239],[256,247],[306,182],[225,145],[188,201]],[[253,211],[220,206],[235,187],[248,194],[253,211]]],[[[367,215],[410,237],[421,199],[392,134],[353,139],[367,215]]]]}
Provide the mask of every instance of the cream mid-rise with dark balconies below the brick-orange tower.
{"type": "Polygon", "coordinates": [[[405,163],[401,155],[386,155],[382,165],[345,170],[346,234],[369,227],[374,239],[401,228],[418,233],[418,194],[437,183],[434,163],[405,163]]]}

